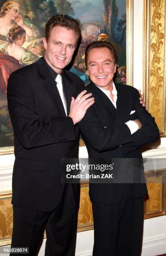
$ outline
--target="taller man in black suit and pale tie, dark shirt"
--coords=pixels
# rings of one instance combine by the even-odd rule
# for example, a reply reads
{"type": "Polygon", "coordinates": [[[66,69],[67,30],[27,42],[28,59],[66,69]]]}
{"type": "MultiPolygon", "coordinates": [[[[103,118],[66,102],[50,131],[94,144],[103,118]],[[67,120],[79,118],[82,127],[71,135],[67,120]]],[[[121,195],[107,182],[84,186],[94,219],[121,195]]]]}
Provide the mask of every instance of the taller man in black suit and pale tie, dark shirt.
{"type": "Polygon", "coordinates": [[[77,158],[75,126],[94,99],[75,74],[63,70],[80,37],[77,20],[53,16],[45,28],[45,56],[8,80],[15,138],[12,247],[34,256],[46,227],[45,255],[73,256],[80,187],[61,183],[61,158],[77,158]],[[77,98],[73,93],[84,90],[77,98]]]}

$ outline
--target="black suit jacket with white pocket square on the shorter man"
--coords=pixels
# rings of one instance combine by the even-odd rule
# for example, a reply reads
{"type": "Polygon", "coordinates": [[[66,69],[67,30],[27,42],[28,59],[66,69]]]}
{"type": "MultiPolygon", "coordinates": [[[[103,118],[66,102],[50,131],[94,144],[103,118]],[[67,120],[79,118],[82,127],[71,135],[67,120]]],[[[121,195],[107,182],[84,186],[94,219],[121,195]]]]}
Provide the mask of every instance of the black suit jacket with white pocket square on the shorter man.
{"type": "MultiPolygon", "coordinates": [[[[158,127],[154,118],[140,104],[138,90],[122,84],[115,86],[118,96],[116,108],[93,82],[86,87],[87,92],[91,92],[95,98],[95,103],[87,110],[78,126],[88,156],[141,159],[140,147],[158,139],[158,127]],[[133,110],[136,112],[131,114],[133,110]],[[143,126],[131,135],[125,123],[134,119],[139,119],[143,126]]],[[[96,202],[118,204],[123,198],[124,189],[125,184],[90,184],[90,197],[96,202]]],[[[130,184],[130,189],[134,197],[147,193],[146,184],[130,184]]]]}

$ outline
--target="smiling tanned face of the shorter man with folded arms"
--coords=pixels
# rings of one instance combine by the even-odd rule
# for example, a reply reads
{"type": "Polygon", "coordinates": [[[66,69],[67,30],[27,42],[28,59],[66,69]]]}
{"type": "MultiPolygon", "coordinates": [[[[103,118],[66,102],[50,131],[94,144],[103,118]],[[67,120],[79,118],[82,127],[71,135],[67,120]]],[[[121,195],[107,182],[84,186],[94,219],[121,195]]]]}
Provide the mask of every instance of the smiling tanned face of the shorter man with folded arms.
{"type": "Polygon", "coordinates": [[[113,55],[108,48],[91,49],[88,53],[87,69],[94,84],[105,90],[111,88],[116,64],[114,64],[113,55]]]}

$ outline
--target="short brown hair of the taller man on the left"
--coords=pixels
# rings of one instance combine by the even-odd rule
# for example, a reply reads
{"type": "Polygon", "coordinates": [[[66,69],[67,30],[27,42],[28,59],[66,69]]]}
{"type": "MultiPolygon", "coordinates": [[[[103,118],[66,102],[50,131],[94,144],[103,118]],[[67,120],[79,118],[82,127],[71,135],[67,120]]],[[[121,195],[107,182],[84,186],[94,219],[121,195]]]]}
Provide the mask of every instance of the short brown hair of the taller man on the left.
{"type": "Polygon", "coordinates": [[[55,26],[61,26],[64,28],[68,28],[74,30],[77,34],[78,39],[80,38],[81,30],[80,30],[80,23],[78,20],[68,16],[68,15],[55,15],[48,20],[47,24],[45,25],[45,38],[48,41],[50,37],[50,33],[55,26]]]}

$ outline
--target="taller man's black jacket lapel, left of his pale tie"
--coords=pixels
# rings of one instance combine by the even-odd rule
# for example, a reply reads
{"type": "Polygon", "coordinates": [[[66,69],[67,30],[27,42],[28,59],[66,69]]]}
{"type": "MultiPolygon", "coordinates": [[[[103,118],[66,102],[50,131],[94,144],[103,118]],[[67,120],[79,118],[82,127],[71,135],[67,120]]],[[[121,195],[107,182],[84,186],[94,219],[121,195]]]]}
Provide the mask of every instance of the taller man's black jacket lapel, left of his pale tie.
{"type": "Polygon", "coordinates": [[[45,92],[49,94],[50,99],[53,101],[53,104],[59,110],[60,116],[66,116],[63,103],[60,98],[58,88],[56,86],[56,82],[50,74],[48,67],[45,65],[42,58],[39,59],[36,64],[38,67],[39,75],[41,77],[41,86],[43,86],[45,92]]]}

